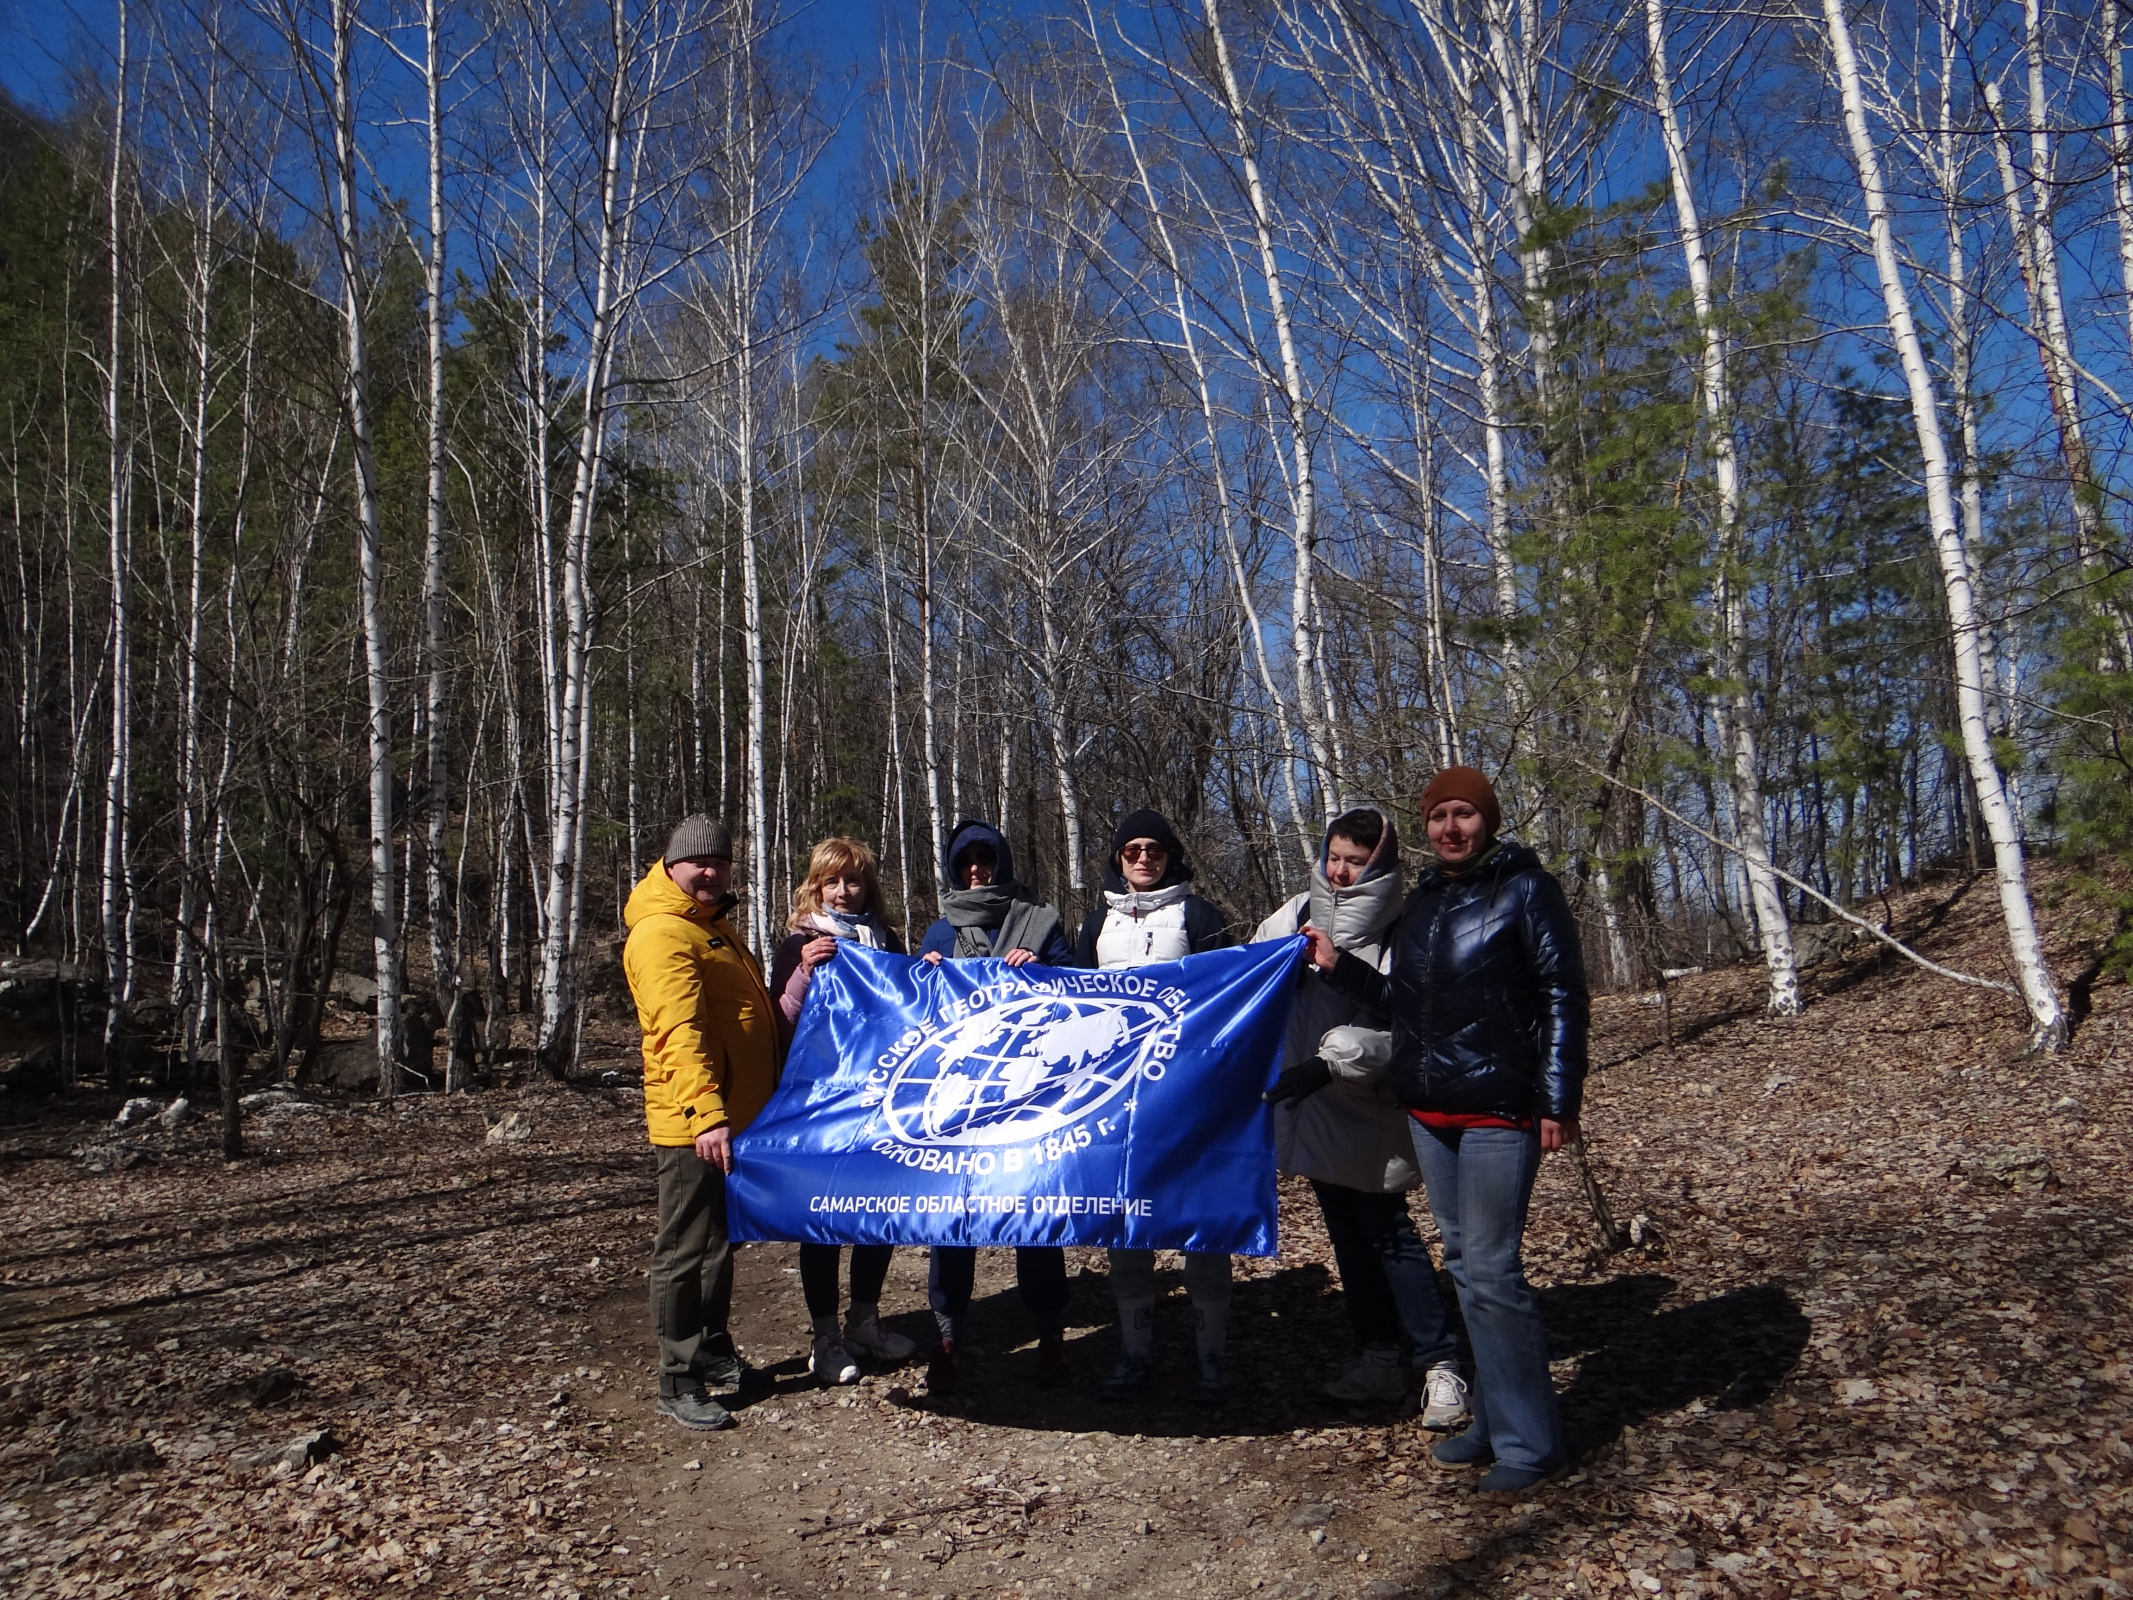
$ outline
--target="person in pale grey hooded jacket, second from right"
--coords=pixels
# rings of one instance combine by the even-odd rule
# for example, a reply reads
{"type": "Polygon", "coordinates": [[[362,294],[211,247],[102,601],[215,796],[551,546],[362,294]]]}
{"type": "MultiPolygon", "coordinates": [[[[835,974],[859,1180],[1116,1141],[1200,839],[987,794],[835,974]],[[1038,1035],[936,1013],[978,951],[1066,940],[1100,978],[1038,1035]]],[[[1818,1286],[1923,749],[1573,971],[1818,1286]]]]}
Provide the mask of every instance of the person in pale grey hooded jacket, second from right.
{"type": "MultiPolygon", "coordinates": [[[[1312,887],[1258,924],[1252,943],[1322,928],[1340,949],[1384,971],[1386,937],[1404,905],[1399,834],[1372,806],[1327,828],[1312,887]]],[[[1459,1346],[1444,1318],[1429,1248],[1408,1214],[1423,1182],[1408,1116],[1386,1082],[1391,1033],[1357,1026],[1361,1009],[1310,962],[1288,1007],[1282,1075],[1267,1090],[1273,1154],[1284,1173],[1310,1178],[1327,1220],[1342,1299],[1363,1359],[1325,1391],[1335,1399],[1404,1399],[1399,1335],[1423,1374],[1423,1427],[1444,1431],[1468,1414],[1459,1346]]]]}

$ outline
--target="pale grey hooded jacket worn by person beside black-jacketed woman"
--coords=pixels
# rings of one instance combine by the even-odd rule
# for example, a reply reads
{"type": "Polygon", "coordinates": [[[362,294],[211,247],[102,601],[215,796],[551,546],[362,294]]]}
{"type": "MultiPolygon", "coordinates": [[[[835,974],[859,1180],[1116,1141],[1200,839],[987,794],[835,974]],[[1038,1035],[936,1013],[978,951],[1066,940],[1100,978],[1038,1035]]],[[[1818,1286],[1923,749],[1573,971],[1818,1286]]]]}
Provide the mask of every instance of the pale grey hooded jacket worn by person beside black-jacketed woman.
{"type": "MultiPolygon", "coordinates": [[[[1384,817],[1384,813],[1378,813],[1384,817]]],[[[1335,890],[1325,875],[1325,845],[1312,868],[1312,887],[1258,924],[1252,941],[1288,939],[1305,922],[1333,934],[1333,943],[1378,971],[1391,956],[1386,937],[1406,900],[1399,879],[1399,836],[1384,817],[1378,849],[1350,890],[1335,890]]],[[[1386,1075],[1393,1037],[1354,1026],[1359,1007],[1301,964],[1288,1007],[1282,1067],[1318,1056],[1333,1082],[1303,1101],[1273,1107],[1273,1154],[1284,1173],[1322,1184],[1397,1195],[1423,1182],[1414,1165],[1414,1135],[1386,1075]]]]}

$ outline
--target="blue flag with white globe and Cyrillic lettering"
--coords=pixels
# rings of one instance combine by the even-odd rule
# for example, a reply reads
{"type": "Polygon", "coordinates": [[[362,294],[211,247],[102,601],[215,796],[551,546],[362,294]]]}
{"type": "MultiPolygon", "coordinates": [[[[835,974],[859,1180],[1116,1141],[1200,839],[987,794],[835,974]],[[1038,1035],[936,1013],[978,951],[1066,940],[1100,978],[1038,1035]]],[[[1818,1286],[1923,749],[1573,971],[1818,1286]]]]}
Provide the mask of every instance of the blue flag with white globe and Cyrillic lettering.
{"type": "Polygon", "coordinates": [[[1258,1097],[1301,945],[1084,973],[840,943],[734,1139],[727,1231],[1273,1254],[1258,1097]]]}

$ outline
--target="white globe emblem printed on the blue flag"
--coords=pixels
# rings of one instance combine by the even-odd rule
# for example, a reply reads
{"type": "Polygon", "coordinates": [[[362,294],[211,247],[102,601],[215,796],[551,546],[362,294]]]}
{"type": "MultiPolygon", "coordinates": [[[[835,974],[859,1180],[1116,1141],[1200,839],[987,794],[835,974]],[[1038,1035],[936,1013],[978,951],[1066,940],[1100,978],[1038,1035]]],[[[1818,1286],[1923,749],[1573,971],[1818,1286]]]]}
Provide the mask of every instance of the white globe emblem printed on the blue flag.
{"type": "Polygon", "coordinates": [[[881,1116],[902,1143],[1041,1139],[1130,1088],[1169,1022],[1128,996],[1020,996],[913,1050],[883,1090],[881,1116]]]}

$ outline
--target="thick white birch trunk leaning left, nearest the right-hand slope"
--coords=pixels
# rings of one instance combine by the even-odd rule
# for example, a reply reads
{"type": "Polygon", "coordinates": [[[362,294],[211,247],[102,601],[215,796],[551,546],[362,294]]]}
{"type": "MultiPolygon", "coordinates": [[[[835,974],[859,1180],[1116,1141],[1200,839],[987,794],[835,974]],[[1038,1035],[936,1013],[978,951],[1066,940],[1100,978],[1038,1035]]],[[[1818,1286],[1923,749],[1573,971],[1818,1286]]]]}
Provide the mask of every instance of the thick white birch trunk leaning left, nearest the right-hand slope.
{"type": "Polygon", "coordinates": [[[2067,1015],[2058,986],[2043,964],[2037,919],[2028,900],[2028,873],[2022,860],[2022,838],[2007,806],[2007,787],[1992,757],[1992,730],[1986,721],[1984,663],[1977,651],[1977,602],[1971,591],[1971,559],[1962,527],[1956,521],[1954,484],[1947,467],[1947,444],[1941,435],[1941,410],[1926,365],[1924,341],[1911,316],[1911,292],[1903,282],[1896,256],[1896,230],[1890,222],[1888,188],[1881,177],[1881,151],[1866,122],[1866,98],[1860,90],[1858,53],[1851,45],[1851,23],[1845,0],[1822,0],[1822,17],[1830,45],[1830,66],[1845,107],[1845,132],[1858,169],[1860,198],[1873,237],[1875,273],[1881,279],[1881,303],[1888,333],[1903,365],[1911,395],[1911,418],[1918,427],[1918,448],[1924,459],[1926,514],[1932,518],[1932,544],[1941,561],[1941,589],[1947,597],[1947,623],[1956,659],[1956,710],[1962,727],[1962,753],[1969,762],[1986,834],[1992,841],[1994,879],[1999,881],[2001,915],[2007,922],[2007,943],[2016,979],[2028,1005],[2031,1045],[2058,1050],[2067,1039],[2067,1015]]]}

